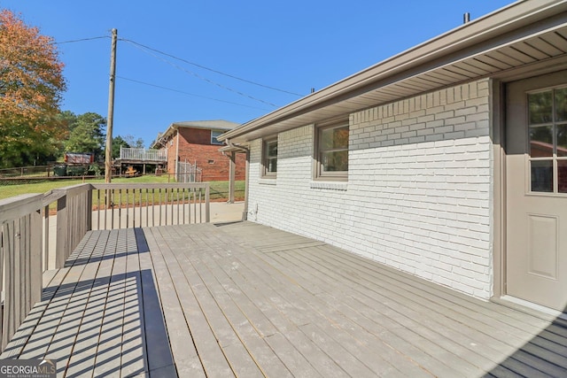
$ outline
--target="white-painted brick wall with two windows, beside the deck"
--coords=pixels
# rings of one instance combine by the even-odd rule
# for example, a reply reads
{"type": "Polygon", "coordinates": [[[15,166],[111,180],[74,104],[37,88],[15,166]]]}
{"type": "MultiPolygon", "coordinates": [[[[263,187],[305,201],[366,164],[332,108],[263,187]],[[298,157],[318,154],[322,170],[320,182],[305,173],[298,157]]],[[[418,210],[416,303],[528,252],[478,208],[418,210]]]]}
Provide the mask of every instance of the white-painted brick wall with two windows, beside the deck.
{"type": "Polygon", "coordinates": [[[314,125],[278,135],[276,185],[260,180],[254,141],[249,219],[489,298],[489,86],[476,81],[351,114],[344,183],[313,181],[314,125]]]}

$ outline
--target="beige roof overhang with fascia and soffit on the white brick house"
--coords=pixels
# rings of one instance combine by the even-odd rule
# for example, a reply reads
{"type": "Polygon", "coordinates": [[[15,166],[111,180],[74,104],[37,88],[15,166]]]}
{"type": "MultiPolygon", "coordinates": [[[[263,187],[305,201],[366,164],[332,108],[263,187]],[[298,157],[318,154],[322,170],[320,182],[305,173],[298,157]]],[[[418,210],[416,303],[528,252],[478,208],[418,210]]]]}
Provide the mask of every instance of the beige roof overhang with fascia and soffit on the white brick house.
{"type": "Polygon", "coordinates": [[[456,27],[221,135],[247,143],[458,83],[567,65],[567,0],[525,0],[456,27]]]}

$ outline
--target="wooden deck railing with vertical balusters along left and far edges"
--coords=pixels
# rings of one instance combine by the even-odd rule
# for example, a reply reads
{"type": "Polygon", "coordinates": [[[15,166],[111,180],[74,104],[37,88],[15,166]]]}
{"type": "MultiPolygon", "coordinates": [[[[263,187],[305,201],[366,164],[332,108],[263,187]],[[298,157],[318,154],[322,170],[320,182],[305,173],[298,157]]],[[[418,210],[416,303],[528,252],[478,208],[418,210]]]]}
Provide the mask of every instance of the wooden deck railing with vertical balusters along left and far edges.
{"type": "Polygon", "coordinates": [[[0,201],[0,351],[40,300],[43,272],[89,230],[209,221],[208,183],[80,184],[0,201]]]}

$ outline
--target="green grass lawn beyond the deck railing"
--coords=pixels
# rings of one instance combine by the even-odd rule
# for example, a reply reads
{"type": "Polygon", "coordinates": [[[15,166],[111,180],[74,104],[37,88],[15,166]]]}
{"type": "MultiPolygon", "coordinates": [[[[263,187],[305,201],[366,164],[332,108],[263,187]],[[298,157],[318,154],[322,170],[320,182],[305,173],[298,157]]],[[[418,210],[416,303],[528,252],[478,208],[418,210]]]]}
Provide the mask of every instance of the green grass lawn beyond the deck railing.
{"type": "MultiPolygon", "coordinates": [[[[105,182],[104,178],[93,179],[87,182],[105,182]]],[[[144,182],[163,182],[167,183],[167,175],[153,176],[145,175],[132,178],[115,178],[113,182],[130,182],[130,183],[144,183],[144,182]]],[[[77,185],[82,183],[81,179],[78,180],[57,180],[57,181],[40,181],[29,182],[21,184],[0,184],[0,199],[19,196],[27,193],[46,193],[50,189],[64,188],[67,186],[77,185]]],[[[210,182],[211,200],[221,200],[229,197],[229,181],[212,181],[210,182]]],[[[244,199],[245,196],[245,181],[237,181],[235,188],[235,197],[237,200],[244,199]]]]}

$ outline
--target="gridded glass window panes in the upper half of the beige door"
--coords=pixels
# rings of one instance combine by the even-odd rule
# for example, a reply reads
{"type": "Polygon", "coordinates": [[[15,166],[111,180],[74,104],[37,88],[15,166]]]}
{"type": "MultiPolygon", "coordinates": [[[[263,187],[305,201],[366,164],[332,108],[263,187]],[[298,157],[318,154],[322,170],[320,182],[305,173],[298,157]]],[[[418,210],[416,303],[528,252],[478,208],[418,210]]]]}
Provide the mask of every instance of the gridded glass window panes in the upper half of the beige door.
{"type": "Polygon", "coordinates": [[[567,193],[567,88],[528,93],[530,191],[567,193]]]}

